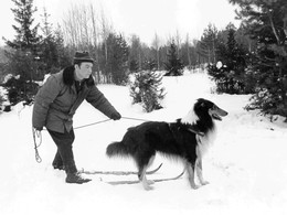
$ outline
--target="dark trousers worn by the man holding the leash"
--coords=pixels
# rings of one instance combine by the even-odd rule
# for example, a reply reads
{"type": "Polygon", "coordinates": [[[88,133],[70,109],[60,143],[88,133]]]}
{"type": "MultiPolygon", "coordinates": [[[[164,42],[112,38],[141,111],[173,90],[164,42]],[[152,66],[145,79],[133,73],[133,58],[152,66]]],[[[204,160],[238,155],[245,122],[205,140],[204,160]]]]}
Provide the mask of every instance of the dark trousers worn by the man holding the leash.
{"type": "Polygon", "coordinates": [[[74,130],[72,129],[70,132],[65,130],[64,133],[52,130],[47,131],[57,147],[53,165],[64,165],[66,173],[77,172],[73,154],[73,142],[75,140],[74,130]]]}

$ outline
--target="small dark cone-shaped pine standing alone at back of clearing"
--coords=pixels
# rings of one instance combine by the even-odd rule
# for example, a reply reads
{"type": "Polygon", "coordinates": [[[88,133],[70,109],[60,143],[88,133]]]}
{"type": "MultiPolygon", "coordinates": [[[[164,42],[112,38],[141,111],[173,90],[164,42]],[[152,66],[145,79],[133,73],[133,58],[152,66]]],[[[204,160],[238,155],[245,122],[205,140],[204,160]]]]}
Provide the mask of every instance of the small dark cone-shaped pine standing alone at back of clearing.
{"type": "Polygon", "coordinates": [[[180,76],[183,73],[183,63],[179,58],[177,54],[177,45],[174,44],[174,40],[170,43],[168,51],[168,62],[164,64],[166,69],[168,71],[166,76],[180,76]]]}

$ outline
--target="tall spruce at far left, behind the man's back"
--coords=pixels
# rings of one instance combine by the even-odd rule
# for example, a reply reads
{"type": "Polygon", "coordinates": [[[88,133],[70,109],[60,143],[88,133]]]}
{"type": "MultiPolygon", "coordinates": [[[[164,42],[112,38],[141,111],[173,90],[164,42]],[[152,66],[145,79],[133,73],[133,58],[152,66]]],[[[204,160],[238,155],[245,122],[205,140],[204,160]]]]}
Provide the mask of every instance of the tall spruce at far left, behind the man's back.
{"type": "Polygon", "coordinates": [[[39,42],[41,37],[38,35],[39,24],[33,26],[33,0],[12,0],[15,4],[11,9],[14,13],[14,20],[19,26],[12,25],[17,32],[13,41],[6,40],[11,51],[6,52],[8,64],[7,74],[13,74],[14,80],[6,83],[9,90],[9,99],[15,104],[21,99],[31,97],[36,92],[33,79],[38,76],[39,67],[39,42]],[[11,90],[11,92],[10,92],[11,90]]]}

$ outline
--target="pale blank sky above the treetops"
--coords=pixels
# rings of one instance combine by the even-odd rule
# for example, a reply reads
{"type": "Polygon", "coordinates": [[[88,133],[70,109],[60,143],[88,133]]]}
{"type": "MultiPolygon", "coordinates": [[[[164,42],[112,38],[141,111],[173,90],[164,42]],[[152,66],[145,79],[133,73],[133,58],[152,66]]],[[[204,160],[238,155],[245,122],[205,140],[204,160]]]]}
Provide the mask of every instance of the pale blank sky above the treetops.
{"type": "MultiPolygon", "coordinates": [[[[91,3],[92,0],[82,0],[81,3],[91,3]]],[[[62,22],[63,17],[77,0],[34,0],[38,7],[38,17],[43,13],[43,7],[51,14],[51,22],[62,22]]],[[[105,14],[111,20],[117,32],[126,36],[137,34],[140,40],[151,44],[155,35],[161,40],[168,40],[179,32],[185,39],[187,34],[192,39],[200,39],[209,23],[215,24],[221,30],[230,22],[238,26],[235,20],[235,7],[228,0],[94,0],[96,7],[103,8],[105,14]]],[[[0,44],[2,36],[12,40],[14,30],[12,24],[13,13],[10,8],[14,4],[4,0],[0,8],[0,44]]],[[[40,21],[40,19],[39,19],[40,21]]]]}

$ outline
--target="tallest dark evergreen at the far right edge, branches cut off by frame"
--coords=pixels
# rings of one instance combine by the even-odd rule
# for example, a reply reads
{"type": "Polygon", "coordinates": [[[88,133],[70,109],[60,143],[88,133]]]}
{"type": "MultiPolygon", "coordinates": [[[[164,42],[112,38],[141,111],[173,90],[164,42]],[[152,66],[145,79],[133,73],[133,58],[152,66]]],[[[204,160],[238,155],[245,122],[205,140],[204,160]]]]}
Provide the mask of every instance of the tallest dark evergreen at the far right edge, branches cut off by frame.
{"type": "Polygon", "coordinates": [[[248,108],[287,117],[287,4],[285,0],[230,0],[257,49],[252,72],[257,93],[248,108]]]}

